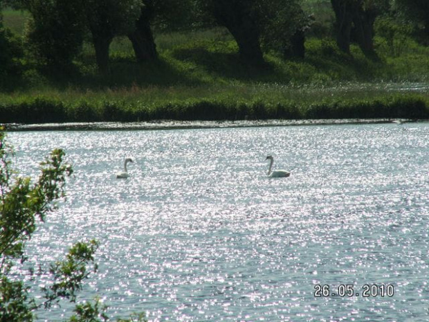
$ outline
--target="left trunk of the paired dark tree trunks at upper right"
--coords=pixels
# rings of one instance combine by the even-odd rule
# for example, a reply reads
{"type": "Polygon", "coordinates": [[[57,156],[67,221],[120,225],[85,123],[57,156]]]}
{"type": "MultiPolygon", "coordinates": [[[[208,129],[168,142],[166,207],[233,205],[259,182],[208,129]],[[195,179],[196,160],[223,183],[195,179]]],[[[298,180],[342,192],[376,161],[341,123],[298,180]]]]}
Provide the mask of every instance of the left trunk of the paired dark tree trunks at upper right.
{"type": "Polygon", "coordinates": [[[350,31],[352,30],[354,6],[345,0],[331,0],[335,13],[336,42],[340,51],[350,53],[350,31]]]}

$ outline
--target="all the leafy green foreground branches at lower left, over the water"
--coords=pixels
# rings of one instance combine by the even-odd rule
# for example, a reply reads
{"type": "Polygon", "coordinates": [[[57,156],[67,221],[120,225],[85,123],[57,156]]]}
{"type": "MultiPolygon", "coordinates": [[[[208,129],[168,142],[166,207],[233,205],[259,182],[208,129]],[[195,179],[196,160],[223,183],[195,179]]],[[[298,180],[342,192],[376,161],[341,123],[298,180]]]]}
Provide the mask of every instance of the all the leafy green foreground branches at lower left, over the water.
{"type": "MultiPolygon", "coordinates": [[[[35,319],[35,311],[42,307],[51,308],[62,299],[75,302],[77,292],[91,272],[87,267],[93,265],[94,272],[98,269],[93,258],[98,242],[77,242],[64,260],[51,264],[48,271],[40,269],[39,274],[48,280],[41,289],[42,300],[36,301],[30,293],[32,289],[24,283],[24,273],[16,274],[15,269],[12,276],[12,267],[26,261],[25,245],[35,232],[37,222],[44,222],[46,215],[57,208],[55,202],[65,196],[66,177],[73,170],[64,163],[64,151],[57,149],[40,163],[41,174],[35,182],[16,176],[10,168],[13,152],[5,136],[0,127],[0,322],[30,322],[35,319]]],[[[23,267],[17,269],[23,270],[23,267]]],[[[29,271],[34,268],[30,267],[29,271]]],[[[68,321],[109,321],[106,309],[98,299],[94,303],[77,304],[68,321]]],[[[146,320],[145,314],[137,314],[118,321],[146,320]]]]}

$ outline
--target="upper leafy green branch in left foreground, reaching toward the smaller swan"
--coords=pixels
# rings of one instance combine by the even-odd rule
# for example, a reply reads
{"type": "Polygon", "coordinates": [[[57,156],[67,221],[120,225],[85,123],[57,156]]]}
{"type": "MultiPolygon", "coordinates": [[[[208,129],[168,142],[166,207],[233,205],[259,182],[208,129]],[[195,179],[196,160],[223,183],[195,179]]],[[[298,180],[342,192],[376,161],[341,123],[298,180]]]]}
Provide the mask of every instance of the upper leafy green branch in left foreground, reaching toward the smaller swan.
{"type": "Polygon", "coordinates": [[[36,217],[42,222],[46,213],[53,211],[53,202],[64,197],[66,176],[73,170],[63,165],[64,151],[57,149],[51,152],[51,158],[41,163],[42,174],[35,184],[30,178],[17,177],[10,184],[10,153],[3,150],[4,132],[0,133],[0,272],[4,273],[3,264],[8,258],[22,256],[24,243],[29,240],[36,229],[36,217]]]}

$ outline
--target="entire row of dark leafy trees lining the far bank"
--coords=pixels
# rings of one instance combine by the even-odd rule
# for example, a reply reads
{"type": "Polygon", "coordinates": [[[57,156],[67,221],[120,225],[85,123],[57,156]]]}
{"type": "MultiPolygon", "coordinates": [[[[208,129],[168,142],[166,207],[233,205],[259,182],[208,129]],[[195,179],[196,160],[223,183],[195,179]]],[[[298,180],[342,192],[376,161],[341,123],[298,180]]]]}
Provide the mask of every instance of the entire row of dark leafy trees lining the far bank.
{"type": "MultiPolygon", "coordinates": [[[[306,30],[311,18],[302,0],[1,0],[2,6],[25,8],[31,13],[26,30],[27,52],[37,62],[71,64],[82,43],[90,39],[102,73],[109,71],[109,46],[114,37],[127,35],[138,62],[158,57],[154,30],[196,30],[225,27],[237,42],[241,60],[262,64],[263,53],[274,51],[285,59],[304,57],[306,30]]],[[[426,0],[326,0],[335,15],[338,48],[350,52],[356,42],[367,57],[375,57],[374,23],[381,15],[396,15],[414,21],[429,39],[429,2],[426,0]],[[399,12],[399,14],[398,14],[399,12]]],[[[387,20],[386,20],[387,21],[387,20]]],[[[391,26],[401,25],[396,21],[391,26]]],[[[382,26],[383,24],[379,24],[382,26]]],[[[383,35],[392,46],[389,30],[383,35]]],[[[0,22],[0,75],[12,66],[15,55],[12,37],[0,22]],[[6,62],[7,60],[7,62],[6,62]]],[[[15,42],[16,44],[16,42],[15,42]]],[[[16,57],[16,56],[15,56],[16,57]]]]}

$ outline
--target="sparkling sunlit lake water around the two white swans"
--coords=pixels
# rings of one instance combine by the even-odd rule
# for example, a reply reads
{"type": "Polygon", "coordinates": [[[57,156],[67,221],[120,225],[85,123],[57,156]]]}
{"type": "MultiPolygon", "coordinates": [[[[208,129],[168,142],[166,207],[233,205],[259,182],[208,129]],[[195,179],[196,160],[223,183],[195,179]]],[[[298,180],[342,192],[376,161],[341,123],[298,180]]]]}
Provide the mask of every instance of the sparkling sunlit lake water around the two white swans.
{"type": "MultiPolygon", "coordinates": [[[[100,294],[111,316],[429,320],[428,123],[11,132],[8,141],[26,175],[66,150],[68,198],[28,253],[46,267],[73,242],[97,239],[100,271],[79,299],[100,294]],[[291,177],[269,179],[268,154],[291,177]],[[116,179],[126,156],[131,177],[116,179]],[[318,285],[329,296],[316,297],[318,285]],[[341,285],[353,295],[338,295],[341,285]],[[364,285],[379,288],[363,296],[364,285]]],[[[65,308],[39,319],[62,321],[65,308]]]]}

